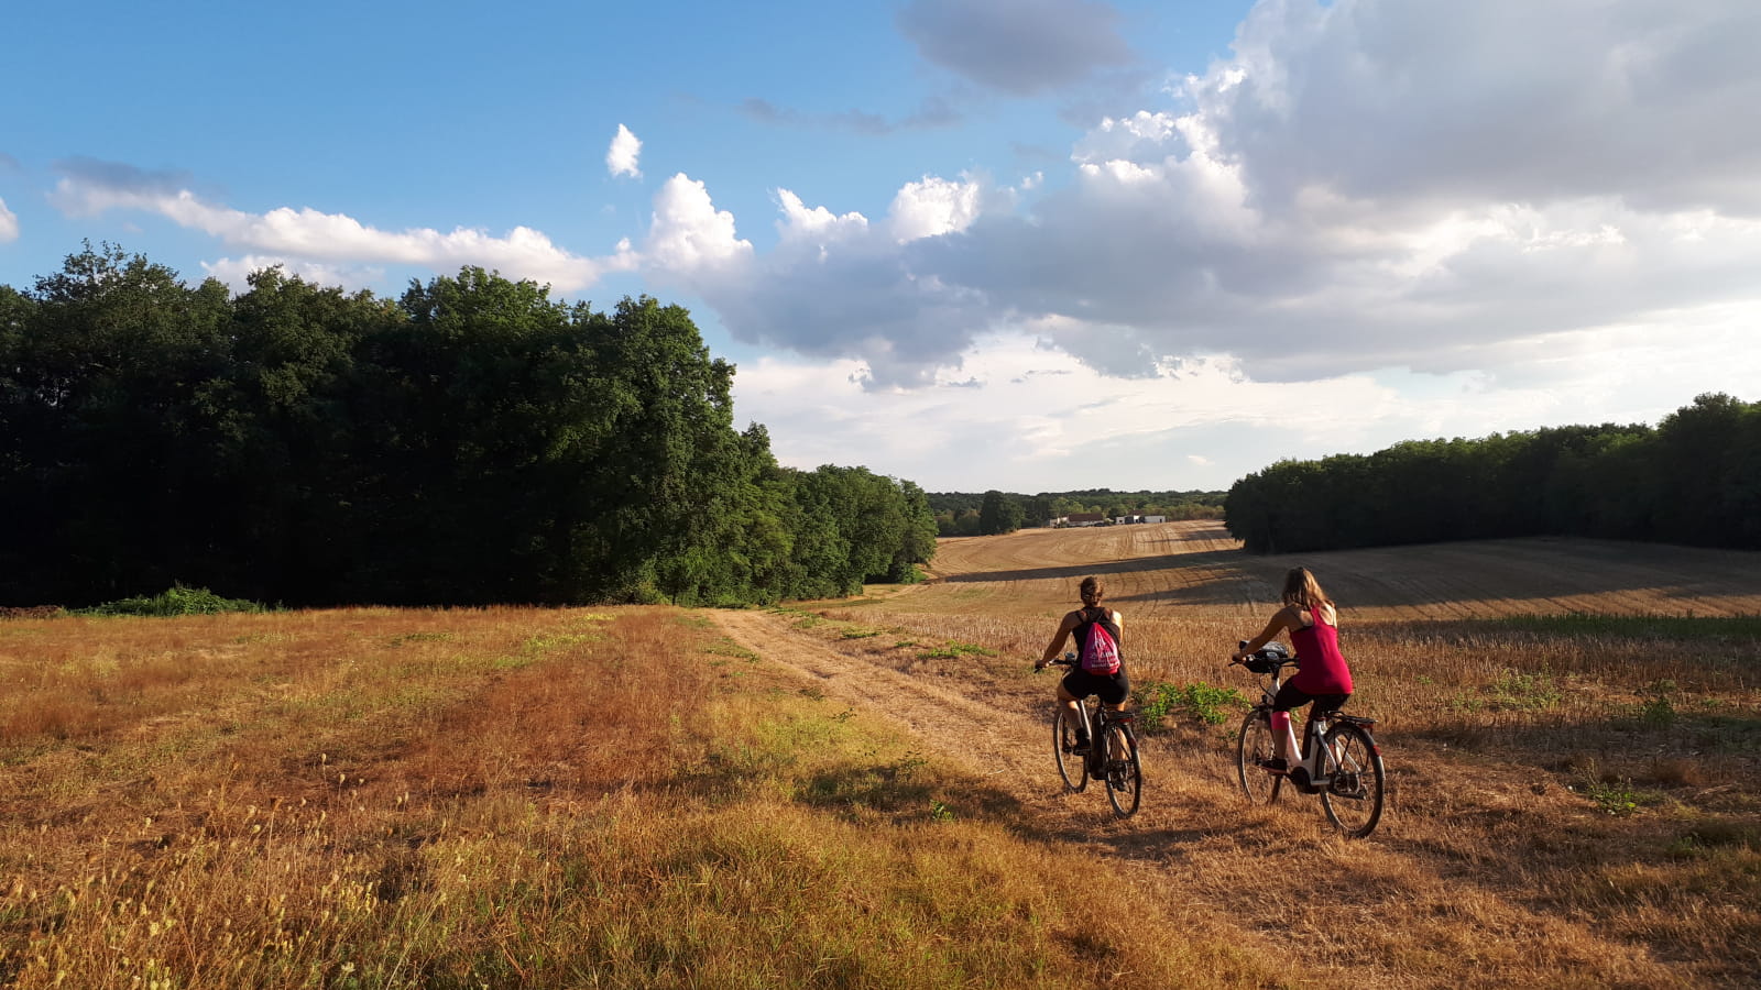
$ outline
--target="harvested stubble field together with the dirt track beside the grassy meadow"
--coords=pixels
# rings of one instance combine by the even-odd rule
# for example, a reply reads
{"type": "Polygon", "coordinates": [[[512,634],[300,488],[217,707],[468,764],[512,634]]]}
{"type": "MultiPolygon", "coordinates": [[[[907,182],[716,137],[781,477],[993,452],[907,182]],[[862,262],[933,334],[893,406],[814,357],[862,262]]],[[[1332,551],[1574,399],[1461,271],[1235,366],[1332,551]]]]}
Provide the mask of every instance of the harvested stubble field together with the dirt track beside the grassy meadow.
{"type": "MultiPolygon", "coordinates": [[[[1532,539],[1243,555],[1217,523],[942,541],[935,576],[729,634],[888,710],[1055,823],[1072,861],[1131,863],[1143,897],[1203,904],[1291,985],[1710,986],[1761,971],[1761,557],[1532,539]],[[1389,810],[1367,840],[1315,798],[1252,809],[1243,705],[1173,705],[1145,740],[1143,810],[1065,794],[1030,673],[1099,574],[1141,691],[1236,689],[1238,639],[1310,565],[1379,719],[1389,810]],[[1203,715],[1220,719],[1215,724],[1203,715]]],[[[1171,934],[1169,937],[1178,937],[1171,934]]]]}

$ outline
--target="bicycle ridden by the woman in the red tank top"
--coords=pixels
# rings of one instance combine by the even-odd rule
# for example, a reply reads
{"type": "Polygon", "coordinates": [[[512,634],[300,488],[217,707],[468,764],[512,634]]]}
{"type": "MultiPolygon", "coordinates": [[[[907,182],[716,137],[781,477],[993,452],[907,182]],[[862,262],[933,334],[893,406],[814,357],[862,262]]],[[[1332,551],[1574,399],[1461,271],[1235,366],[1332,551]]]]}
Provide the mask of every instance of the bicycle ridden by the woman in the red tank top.
{"type": "MultiPolygon", "coordinates": [[[[1245,639],[1242,646],[1247,646],[1245,639]]],[[[1259,705],[1254,705],[1242,720],[1242,735],[1236,740],[1234,770],[1247,800],[1270,805],[1289,782],[1305,794],[1321,794],[1328,821],[1347,837],[1363,839],[1375,831],[1382,819],[1388,782],[1382,750],[1370,735],[1375,719],[1347,715],[1338,708],[1312,712],[1303,728],[1303,763],[1289,772],[1273,770],[1266,766],[1278,752],[1271,735],[1271,699],[1284,683],[1284,669],[1298,666],[1298,659],[1289,655],[1284,643],[1268,643],[1266,648],[1238,662],[1252,673],[1271,675],[1270,687],[1261,683],[1259,705]],[[1319,765],[1310,761],[1317,745],[1319,765]],[[1303,773],[1308,775],[1307,782],[1303,773]]]]}

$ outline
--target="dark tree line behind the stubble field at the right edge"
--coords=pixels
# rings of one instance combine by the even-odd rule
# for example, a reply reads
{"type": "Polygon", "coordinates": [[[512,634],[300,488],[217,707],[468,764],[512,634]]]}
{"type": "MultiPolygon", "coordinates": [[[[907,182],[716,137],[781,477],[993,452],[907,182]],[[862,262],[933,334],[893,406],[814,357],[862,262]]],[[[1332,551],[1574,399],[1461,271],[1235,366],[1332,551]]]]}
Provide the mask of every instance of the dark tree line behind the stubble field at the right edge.
{"type": "Polygon", "coordinates": [[[1585,536],[1761,550],[1761,403],[1701,395],[1645,425],[1411,440],[1278,462],[1229,488],[1250,553],[1585,536]]]}

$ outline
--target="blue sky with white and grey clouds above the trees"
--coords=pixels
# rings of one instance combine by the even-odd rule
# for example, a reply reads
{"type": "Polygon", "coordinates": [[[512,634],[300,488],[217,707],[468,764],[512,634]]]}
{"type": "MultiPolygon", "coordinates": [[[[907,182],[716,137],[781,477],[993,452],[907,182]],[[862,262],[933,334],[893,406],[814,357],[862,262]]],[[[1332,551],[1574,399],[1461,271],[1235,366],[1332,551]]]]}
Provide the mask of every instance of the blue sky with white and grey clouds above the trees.
{"type": "Polygon", "coordinates": [[[481,264],[692,310],[932,491],[1761,400],[1750,0],[25,4],[0,284],[481,264]]]}

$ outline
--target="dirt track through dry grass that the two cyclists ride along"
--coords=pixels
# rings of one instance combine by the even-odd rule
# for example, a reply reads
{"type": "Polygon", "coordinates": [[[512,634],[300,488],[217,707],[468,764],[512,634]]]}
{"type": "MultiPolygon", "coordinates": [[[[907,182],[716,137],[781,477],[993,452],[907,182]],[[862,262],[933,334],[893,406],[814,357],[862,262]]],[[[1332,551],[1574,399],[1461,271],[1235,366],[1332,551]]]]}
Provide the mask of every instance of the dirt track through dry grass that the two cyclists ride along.
{"type": "MultiPolygon", "coordinates": [[[[1046,571],[1020,555],[998,580],[1050,580],[1046,571]]],[[[1057,581],[1065,581],[1062,571],[1057,581]]],[[[1247,807],[1233,782],[1233,757],[1217,740],[1157,736],[1143,750],[1143,809],[1120,821],[1104,793],[1090,786],[1069,794],[1057,779],[1046,722],[1051,675],[1027,685],[1020,676],[926,676],[896,669],[865,652],[861,641],[798,629],[785,615],[710,615],[729,639],[766,662],[896,720],[926,750],[983,775],[1020,802],[1023,833],[1113,858],[1146,897],[1205,905],[1213,932],[1284,960],[1291,972],[1319,965],[1330,981],[1367,986],[1499,986],[1500,960],[1520,960],[1529,972],[1536,960],[1546,960],[1562,974],[1560,985],[1694,985],[1643,946],[1608,937],[1595,918],[1558,918],[1527,904],[1522,875],[1440,856],[1439,844],[1453,828],[1448,814],[1463,810],[1469,798],[1444,802],[1440,817],[1404,821],[1400,796],[1405,787],[1430,787],[1437,765],[1419,773],[1407,754],[1393,756],[1388,823],[1372,840],[1345,842],[1326,828],[1314,800],[1247,807]],[[1308,877],[1328,877],[1326,890],[1345,897],[1286,893],[1307,888],[1308,877]],[[1407,944],[1402,932],[1400,918],[1409,914],[1425,920],[1421,944],[1407,944]],[[1449,921],[1458,916],[1460,925],[1449,921]],[[1456,928],[1460,941],[1451,944],[1448,932],[1456,928]],[[1300,949],[1293,951],[1291,937],[1300,939],[1300,949]],[[1402,962],[1414,958],[1411,953],[1426,960],[1418,974],[1402,962]],[[1449,978],[1439,979],[1439,953],[1474,962],[1444,965],[1449,978]]]]}

